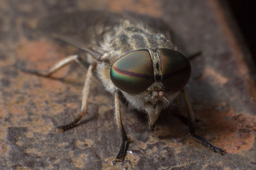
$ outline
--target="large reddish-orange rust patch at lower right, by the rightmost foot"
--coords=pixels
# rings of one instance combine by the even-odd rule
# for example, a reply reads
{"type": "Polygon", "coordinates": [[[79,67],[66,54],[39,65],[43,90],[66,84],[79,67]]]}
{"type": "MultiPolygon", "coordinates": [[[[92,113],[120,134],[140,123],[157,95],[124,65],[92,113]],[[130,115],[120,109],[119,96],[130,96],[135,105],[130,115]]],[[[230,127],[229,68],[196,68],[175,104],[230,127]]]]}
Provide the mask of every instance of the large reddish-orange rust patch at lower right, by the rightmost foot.
{"type": "Polygon", "coordinates": [[[252,132],[256,129],[256,117],[237,115],[227,108],[225,103],[202,108],[198,115],[199,119],[204,119],[198,122],[198,127],[207,128],[204,129],[204,134],[215,136],[214,144],[224,148],[228,153],[240,153],[253,147],[255,137],[252,132]]]}

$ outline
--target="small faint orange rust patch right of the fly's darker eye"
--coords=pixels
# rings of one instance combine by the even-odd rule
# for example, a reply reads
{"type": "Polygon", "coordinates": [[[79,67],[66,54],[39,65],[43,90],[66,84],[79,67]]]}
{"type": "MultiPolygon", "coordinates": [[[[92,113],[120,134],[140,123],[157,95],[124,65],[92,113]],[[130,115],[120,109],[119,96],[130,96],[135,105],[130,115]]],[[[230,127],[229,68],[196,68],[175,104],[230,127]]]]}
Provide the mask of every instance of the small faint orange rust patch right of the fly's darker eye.
{"type": "Polygon", "coordinates": [[[213,81],[210,81],[212,85],[220,85],[221,87],[227,83],[228,79],[221,74],[216,73],[214,69],[209,67],[205,68],[204,75],[202,76],[202,80],[207,77],[211,77],[213,81]]]}

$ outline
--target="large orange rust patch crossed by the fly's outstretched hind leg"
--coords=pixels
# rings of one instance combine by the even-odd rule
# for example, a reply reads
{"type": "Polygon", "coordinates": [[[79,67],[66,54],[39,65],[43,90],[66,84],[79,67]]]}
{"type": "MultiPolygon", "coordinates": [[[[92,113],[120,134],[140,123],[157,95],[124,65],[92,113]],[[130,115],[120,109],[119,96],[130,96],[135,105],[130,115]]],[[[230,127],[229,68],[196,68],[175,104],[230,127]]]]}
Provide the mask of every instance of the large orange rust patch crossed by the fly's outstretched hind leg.
{"type": "MultiPolygon", "coordinates": [[[[17,55],[20,59],[27,61],[28,69],[36,69],[47,71],[50,67],[54,66],[56,62],[67,57],[60,46],[52,43],[47,39],[39,39],[38,41],[25,41],[17,49],[17,55]],[[31,64],[32,63],[32,64],[31,64]]],[[[52,77],[61,78],[67,75],[68,66],[61,68],[52,77]]],[[[63,87],[63,82],[52,80],[49,78],[40,78],[42,87],[51,91],[59,90],[63,87]]]]}

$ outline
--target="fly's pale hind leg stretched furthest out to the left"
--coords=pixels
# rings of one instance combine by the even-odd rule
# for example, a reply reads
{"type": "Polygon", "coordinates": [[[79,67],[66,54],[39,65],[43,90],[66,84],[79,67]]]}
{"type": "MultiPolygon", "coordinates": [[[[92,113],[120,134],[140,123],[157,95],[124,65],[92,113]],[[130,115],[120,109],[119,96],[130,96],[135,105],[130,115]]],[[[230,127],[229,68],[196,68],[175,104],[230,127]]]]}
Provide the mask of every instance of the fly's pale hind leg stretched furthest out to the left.
{"type": "Polygon", "coordinates": [[[54,66],[52,66],[49,69],[49,71],[38,71],[38,70],[24,69],[24,68],[19,68],[19,69],[21,71],[31,73],[31,74],[36,74],[38,76],[49,77],[49,76],[51,76],[52,73],[55,73],[56,71],[60,70],[62,67],[67,66],[68,64],[70,64],[71,62],[74,62],[74,61],[83,65],[83,62],[81,61],[81,58],[78,55],[70,55],[67,58],[57,62],[54,66]]]}

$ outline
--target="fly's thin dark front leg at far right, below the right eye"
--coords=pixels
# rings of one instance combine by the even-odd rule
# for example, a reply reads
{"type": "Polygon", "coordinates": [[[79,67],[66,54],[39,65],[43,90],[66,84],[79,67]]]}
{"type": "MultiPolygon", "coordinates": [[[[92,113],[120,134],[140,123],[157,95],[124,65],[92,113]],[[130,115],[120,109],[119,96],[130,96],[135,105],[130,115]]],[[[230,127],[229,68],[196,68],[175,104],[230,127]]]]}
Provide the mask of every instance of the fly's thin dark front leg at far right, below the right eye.
{"type": "Polygon", "coordinates": [[[205,146],[211,148],[211,150],[213,150],[214,152],[220,153],[221,155],[225,155],[226,150],[223,150],[222,148],[218,148],[216,146],[213,146],[211,143],[209,143],[208,141],[206,141],[204,138],[202,138],[201,136],[198,136],[197,134],[195,134],[195,116],[194,116],[194,111],[192,109],[191,103],[189,102],[188,99],[188,94],[185,92],[185,90],[182,90],[184,99],[185,99],[185,103],[188,109],[188,118],[189,118],[189,134],[197,139],[198,141],[200,141],[201,143],[203,143],[205,146]]]}

